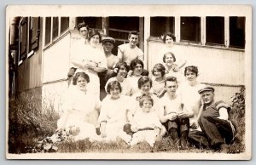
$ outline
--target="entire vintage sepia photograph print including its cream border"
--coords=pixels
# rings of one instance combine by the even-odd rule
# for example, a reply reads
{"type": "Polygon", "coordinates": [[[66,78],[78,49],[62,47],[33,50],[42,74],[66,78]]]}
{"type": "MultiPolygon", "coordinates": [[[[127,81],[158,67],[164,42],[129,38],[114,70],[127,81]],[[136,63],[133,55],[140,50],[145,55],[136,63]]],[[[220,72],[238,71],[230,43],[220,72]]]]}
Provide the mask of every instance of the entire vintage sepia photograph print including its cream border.
{"type": "Polygon", "coordinates": [[[249,5],[9,5],[7,159],[250,160],[249,5]]]}

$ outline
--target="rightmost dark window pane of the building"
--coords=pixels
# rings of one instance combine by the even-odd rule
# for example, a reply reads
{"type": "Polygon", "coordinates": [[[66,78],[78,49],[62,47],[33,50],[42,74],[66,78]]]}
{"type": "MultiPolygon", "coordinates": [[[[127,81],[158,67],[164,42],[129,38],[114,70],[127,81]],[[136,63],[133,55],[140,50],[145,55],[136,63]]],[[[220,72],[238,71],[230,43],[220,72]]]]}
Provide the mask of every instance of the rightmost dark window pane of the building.
{"type": "Polygon", "coordinates": [[[245,17],[230,17],[230,47],[245,48],[245,17]]]}

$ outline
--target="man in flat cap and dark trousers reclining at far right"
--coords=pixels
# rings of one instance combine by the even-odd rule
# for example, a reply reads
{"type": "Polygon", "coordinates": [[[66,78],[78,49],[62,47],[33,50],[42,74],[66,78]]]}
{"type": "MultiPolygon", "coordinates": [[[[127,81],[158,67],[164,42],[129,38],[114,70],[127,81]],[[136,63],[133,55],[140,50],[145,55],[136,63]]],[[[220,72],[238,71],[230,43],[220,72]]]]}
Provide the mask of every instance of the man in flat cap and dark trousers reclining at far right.
{"type": "Polygon", "coordinates": [[[229,119],[230,106],[224,101],[214,100],[214,88],[206,86],[201,88],[202,111],[199,118],[199,125],[202,130],[201,137],[195,134],[195,140],[207,139],[212,149],[229,153],[229,146],[235,137],[236,130],[229,119]]]}

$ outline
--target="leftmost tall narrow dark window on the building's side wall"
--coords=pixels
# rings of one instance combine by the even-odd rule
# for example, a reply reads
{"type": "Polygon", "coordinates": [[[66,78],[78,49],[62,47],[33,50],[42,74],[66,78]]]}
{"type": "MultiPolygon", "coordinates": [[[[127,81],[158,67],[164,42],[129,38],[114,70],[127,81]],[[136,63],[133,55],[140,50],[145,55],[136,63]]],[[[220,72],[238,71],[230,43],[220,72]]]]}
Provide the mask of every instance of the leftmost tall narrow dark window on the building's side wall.
{"type": "Polygon", "coordinates": [[[27,42],[27,17],[23,18],[20,23],[20,60],[26,58],[27,42]]]}

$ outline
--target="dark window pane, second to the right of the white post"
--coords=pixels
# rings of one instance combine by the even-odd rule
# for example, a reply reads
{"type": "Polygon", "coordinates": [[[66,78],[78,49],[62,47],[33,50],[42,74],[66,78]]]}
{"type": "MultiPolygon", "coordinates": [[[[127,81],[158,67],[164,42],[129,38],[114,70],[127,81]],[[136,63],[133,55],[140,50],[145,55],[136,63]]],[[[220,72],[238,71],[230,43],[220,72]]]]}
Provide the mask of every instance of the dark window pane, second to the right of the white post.
{"type": "Polygon", "coordinates": [[[201,42],[201,18],[200,17],[181,17],[181,40],[201,42]]]}

